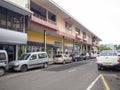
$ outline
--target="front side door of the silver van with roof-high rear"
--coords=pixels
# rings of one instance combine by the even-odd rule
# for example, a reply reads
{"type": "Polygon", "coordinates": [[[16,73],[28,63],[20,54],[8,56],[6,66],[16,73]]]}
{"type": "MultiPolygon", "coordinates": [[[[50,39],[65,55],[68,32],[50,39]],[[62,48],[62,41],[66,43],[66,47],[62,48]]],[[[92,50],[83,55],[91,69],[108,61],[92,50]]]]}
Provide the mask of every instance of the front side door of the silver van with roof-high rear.
{"type": "Polygon", "coordinates": [[[38,55],[37,54],[32,54],[29,60],[29,67],[37,67],[38,65],[38,55]]]}

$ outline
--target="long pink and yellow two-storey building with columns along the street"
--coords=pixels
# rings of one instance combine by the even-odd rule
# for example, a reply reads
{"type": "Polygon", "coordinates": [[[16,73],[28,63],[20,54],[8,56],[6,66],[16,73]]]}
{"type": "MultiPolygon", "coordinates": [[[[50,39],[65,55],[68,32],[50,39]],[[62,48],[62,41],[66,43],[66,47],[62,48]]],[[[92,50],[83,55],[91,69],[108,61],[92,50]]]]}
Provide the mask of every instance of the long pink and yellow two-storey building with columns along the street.
{"type": "Polygon", "coordinates": [[[52,0],[29,0],[27,52],[85,53],[97,48],[100,38],[52,0]]]}

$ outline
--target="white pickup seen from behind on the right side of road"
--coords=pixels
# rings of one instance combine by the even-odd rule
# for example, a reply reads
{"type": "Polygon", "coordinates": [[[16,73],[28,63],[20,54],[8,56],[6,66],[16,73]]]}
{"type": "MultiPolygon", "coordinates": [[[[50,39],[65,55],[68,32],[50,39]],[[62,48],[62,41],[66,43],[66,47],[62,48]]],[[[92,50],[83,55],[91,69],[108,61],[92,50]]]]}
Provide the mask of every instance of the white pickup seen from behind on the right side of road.
{"type": "Polygon", "coordinates": [[[98,70],[104,67],[120,68],[120,57],[118,53],[113,50],[102,51],[96,58],[98,70]]]}

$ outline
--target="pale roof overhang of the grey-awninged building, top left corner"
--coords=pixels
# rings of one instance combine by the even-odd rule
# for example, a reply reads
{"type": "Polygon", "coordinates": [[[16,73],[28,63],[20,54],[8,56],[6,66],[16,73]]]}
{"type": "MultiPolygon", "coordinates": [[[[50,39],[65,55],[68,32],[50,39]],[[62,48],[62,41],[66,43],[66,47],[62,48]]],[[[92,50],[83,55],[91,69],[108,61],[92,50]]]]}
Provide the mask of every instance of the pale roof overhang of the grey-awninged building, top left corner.
{"type": "Polygon", "coordinates": [[[29,9],[24,8],[14,2],[11,2],[10,0],[0,0],[0,6],[7,8],[9,10],[12,10],[14,12],[17,12],[19,14],[22,14],[22,15],[32,14],[32,12],[29,9]]]}

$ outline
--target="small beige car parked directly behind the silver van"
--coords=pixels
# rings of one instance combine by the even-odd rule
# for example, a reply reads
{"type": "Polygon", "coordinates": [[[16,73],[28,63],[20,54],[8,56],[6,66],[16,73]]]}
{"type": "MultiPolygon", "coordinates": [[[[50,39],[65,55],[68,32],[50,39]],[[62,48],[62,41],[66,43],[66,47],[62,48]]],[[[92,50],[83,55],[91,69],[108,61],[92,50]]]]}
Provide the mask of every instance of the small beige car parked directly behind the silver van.
{"type": "Polygon", "coordinates": [[[67,62],[72,62],[72,57],[67,54],[60,54],[60,55],[55,55],[54,56],[54,63],[67,63],[67,62]]]}

